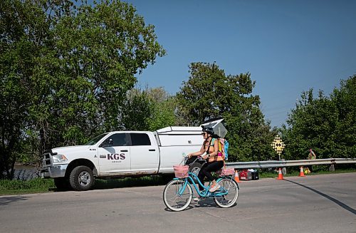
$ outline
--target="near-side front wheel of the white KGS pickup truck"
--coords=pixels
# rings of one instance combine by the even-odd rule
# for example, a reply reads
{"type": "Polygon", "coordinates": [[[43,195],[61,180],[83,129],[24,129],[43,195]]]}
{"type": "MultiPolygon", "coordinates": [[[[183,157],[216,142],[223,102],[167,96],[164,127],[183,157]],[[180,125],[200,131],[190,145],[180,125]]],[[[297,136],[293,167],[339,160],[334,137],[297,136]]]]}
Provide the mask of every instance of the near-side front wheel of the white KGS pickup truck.
{"type": "Polygon", "coordinates": [[[90,190],[93,187],[94,179],[93,171],[87,166],[74,167],[69,176],[70,186],[75,191],[90,190]]]}

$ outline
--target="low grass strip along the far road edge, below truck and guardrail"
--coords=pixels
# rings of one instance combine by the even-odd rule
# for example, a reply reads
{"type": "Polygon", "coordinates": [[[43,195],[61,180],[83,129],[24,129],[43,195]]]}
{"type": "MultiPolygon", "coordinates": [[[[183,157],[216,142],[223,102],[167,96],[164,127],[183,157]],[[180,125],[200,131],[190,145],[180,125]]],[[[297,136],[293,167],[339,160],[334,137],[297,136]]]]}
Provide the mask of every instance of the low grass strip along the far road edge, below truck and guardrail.
{"type": "MultiPolygon", "coordinates": [[[[347,173],[356,172],[356,168],[349,167],[335,170],[330,172],[325,166],[313,166],[313,172],[308,175],[320,175],[320,174],[335,174],[335,173],[347,173]]],[[[287,167],[287,174],[284,177],[298,176],[300,170],[298,167],[287,167]]],[[[260,179],[263,178],[276,178],[278,172],[259,170],[258,175],[260,179]]],[[[165,185],[168,180],[172,180],[172,177],[160,177],[157,175],[149,177],[127,177],[125,179],[112,179],[112,180],[96,180],[93,189],[105,190],[120,187],[143,187],[143,186],[155,186],[165,185]]],[[[54,185],[53,179],[41,179],[36,178],[33,180],[0,180],[0,196],[1,195],[23,195],[29,193],[41,193],[41,192],[58,192],[54,185]]]]}

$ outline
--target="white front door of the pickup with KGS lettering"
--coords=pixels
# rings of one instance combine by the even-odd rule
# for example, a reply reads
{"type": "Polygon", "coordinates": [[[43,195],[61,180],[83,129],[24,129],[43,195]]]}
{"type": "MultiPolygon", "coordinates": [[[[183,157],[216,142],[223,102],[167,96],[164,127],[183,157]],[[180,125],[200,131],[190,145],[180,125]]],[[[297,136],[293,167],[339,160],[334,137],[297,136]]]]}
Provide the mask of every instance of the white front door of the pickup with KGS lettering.
{"type": "Polygon", "coordinates": [[[115,133],[98,147],[100,175],[130,172],[129,137],[127,133],[115,133]]]}

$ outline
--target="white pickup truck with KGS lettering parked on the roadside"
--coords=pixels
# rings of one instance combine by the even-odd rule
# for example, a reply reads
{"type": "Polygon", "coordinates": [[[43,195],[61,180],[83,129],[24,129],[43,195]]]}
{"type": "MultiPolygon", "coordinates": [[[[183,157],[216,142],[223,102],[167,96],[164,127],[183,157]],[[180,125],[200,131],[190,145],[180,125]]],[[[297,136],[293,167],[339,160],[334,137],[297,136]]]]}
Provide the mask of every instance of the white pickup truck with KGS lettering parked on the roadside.
{"type": "Polygon", "coordinates": [[[81,191],[93,187],[95,177],[168,175],[185,155],[200,150],[203,140],[201,127],[103,133],[86,145],[46,151],[41,177],[54,178],[58,189],[81,191]]]}

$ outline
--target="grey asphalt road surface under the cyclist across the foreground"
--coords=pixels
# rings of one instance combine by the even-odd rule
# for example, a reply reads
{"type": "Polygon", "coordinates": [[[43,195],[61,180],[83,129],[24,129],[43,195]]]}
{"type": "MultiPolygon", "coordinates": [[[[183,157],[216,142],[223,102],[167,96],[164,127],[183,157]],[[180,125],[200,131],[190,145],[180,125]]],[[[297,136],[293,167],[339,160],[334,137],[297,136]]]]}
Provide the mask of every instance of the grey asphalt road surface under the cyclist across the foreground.
{"type": "Polygon", "coordinates": [[[240,182],[238,204],[170,212],[164,186],[0,197],[0,232],[356,232],[356,173],[240,182]]]}

